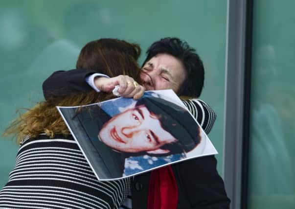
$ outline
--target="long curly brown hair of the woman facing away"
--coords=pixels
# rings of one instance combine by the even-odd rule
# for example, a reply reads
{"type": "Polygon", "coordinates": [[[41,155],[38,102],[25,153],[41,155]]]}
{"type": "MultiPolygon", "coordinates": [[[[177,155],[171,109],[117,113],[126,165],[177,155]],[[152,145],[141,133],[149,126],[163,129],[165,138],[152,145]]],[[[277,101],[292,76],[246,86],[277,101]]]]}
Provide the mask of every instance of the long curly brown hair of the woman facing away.
{"type": "MultiPolygon", "coordinates": [[[[110,77],[121,74],[133,77],[140,82],[140,69],[137,59],[140,47],[118,39],[99,39],[86,44],[78,57],[77,69],[96,70],[110,77]]],[[[3,136],[14,135],[20,143],[25,137],[36,138],[45,133],[54,138],[56,134],[69,135],[69,130],[56,106],[86,105],[114,98],[110,93],[79,93],[65,97],[52,98],[39,102],[14,120],[3,136]]]]}

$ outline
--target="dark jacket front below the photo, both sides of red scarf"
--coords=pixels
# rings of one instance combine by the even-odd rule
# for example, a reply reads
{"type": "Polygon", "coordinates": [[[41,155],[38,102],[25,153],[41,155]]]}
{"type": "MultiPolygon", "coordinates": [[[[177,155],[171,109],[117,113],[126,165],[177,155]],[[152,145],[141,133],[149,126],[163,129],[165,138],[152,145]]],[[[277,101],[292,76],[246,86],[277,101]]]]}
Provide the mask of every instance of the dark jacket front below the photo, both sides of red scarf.
{"type": "MultiPolygon", "coordinates": [[[[229,209],[224,183],[213,155],[172,165],[179,196],[177,209],[229,209]]],[[[146,209],[150,173],[134,178],[132,209],[146,209]]]]}

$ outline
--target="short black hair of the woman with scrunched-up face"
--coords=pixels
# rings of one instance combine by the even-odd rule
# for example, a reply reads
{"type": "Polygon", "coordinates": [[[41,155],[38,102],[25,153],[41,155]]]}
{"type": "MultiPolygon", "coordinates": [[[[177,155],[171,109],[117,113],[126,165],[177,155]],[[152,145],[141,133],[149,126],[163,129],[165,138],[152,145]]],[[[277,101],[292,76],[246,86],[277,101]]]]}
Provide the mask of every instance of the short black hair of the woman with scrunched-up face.
{"type": "Polygon", "coordinates": [[[147,61],[157,54],[169,54],[182,62],[186,77],[178,95],[199,97],[204,86],[204,66],[196,50],[190,47],[187,42],[179,38],[163,38],[153,43],[146,51],[147,57],[142,67],[147,61]]]}

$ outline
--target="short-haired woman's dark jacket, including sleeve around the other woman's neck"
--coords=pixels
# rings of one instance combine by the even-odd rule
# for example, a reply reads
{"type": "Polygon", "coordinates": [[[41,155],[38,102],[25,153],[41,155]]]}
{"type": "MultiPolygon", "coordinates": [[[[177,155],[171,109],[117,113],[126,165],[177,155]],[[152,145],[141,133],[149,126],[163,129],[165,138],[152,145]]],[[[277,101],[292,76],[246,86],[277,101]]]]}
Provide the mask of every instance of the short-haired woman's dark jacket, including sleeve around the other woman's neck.
{"type": "MultiPolygon", "coordinates": [[[[84,69],[56,71],[43,83],[44,96],[50,99],[88,92],[91,87],[85,82],[85,77],[96,72],[84,69]]],[[[172,165],[179,189],[178,209],[229,209],[230,200],[216,164],[216,158],[211,155],[172,165]]],[[[147,207],[149,176],[150,173],[145,173],[134,178],[133,209],[147,207]]]]}

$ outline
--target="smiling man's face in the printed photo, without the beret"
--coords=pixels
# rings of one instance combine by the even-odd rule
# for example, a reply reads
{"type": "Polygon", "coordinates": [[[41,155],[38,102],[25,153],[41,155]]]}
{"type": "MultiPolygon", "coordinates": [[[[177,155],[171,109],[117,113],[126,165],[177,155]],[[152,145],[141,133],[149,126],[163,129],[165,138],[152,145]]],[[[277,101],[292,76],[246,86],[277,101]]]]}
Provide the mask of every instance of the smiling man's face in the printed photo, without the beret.
{"type": "Polygon", "coordinates": [[[113,116],[104,124],[98,136],[114,150],[129,153],[168,153],[168,150],[159,147],[177,140],[162,128],[158,117],[144,105],[113,116]]]}

